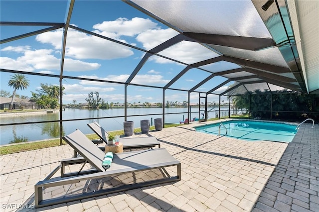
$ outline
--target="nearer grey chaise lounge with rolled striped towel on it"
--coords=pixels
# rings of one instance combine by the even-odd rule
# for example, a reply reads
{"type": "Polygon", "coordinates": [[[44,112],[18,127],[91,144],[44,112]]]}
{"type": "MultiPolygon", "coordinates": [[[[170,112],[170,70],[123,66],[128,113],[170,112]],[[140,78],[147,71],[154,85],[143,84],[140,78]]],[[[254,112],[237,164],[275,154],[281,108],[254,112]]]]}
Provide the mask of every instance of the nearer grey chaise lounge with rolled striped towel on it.
{"type": "MultiPolygon", "coordinates": [[[[102,167],[102,161],[105,153],[102,152],[99,147],[94,145],[94,143],[92,143],[91,140],[88,139],[80,130],[77,129],[71,134],[64,136],[63,140],[65,140],[71,147],[79,152],[82,157],[62,160],[61,164],[51,174],[49,174],[48,177],[46,177],[43,181],[39,181],[34,186],[36,208],[107,195],[110,193],[122,192],[161,183],[180,181],[181,179],[180,162],[173,158],[173,156],[171,156],[165,148],[114,154],[111,167],[105,171],[102,167]],[[84,163],[84,165],[85,163],[90,163],[90,165],[94,168],[82,171],[84,167],[83,165],[80,171],[65,174],[66,165],[79,163],[84,163]],[[167,170],[163,169],[165,167],[174,166],[176,166],[176,176],[170,176],[167,173],[167,170]],[[52,178],[59,169],[61,169],[61,177],[52,178]],[[108,185],[108,188],[103,188],[103,186],[101,186],[101,188],[96,190],[89,189],[88,191],[83,191],[84,189],[82,189],[83,192],[80,194],[73,194],[72,191],[69,192],[68,189],[66,189],[66,191],[63,190],[63,188],[70,188],[71,185],[75,185],[81,181],[86,181],[86,184],[88,184],[93,179],[102,181],[102,179],[105,179],[106,177],[116,177],[121,174],[154,169],[163,169],[161,171],[161,176],[163,175],[163,178],[152,179],[144,182],[133,181],[133,183],[130,184],[125,182],[115,187],[110,187],[108,185]],[[62,191],[61,197],[43,200],[43,196],[45,196],[43,195],[43,188],[56,186],[62,186],[62,188],[60,188],[62,191]],[[68,192],[72,194],[65,194],[68,192]]],[[[170,170],[170,172],[172,171],[170,170]]],[[[56,191],[53,188],[49,189],[49,191],[51,190],[56,191]]],[[[77,189],[77,191],[81,191],[81,189],[77,189]]]]}

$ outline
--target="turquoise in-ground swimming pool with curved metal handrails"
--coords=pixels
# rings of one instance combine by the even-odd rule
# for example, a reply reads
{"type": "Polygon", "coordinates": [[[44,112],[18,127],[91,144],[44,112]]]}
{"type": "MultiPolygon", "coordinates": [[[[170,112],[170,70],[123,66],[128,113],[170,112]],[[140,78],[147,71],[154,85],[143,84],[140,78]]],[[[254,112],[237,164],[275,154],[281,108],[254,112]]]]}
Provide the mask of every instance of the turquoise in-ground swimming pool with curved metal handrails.
{"type": "MultiPolygon", "coordinates": [[[[247,141],[268,140],[289,143],[297,132],[297,125],[294,124],[254,120],[230,120],[194,128],[198,132],[218,135],[220,123],[227,128],[227,137],[247,141]]],[[[220,135],[225,135],[225,127],[220,127],[220,135]]]]}

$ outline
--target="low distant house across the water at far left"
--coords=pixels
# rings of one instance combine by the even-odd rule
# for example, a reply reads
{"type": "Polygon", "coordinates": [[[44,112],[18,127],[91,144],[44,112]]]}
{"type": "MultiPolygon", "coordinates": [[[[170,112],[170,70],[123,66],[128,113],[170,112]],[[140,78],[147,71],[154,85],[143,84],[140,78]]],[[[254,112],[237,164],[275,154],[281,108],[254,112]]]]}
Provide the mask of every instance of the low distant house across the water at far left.
{"type": "MultiPolygon", "coordinates": [[[[9,108],[10,103],[11,103],[11,98],[0,97],[0,109],[9,108]]],[[[14,98],[14,102],[12,104],[12,109],[21,109],[21,105],[24,106],[24,109],[38,109],[39,108],[35,104],[35,102],[31,102],[30,99],[14,98]]]]}

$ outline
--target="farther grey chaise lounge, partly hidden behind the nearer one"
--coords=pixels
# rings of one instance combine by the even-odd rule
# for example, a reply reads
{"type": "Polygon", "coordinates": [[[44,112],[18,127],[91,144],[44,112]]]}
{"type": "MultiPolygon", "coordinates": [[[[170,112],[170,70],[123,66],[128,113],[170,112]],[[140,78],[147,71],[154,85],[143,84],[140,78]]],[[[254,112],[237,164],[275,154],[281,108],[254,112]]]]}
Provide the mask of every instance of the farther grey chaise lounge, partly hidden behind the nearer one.
{"type": "MultiPolygon", "coordinates": [[[[87,124],[93,132],[95,132],[99,137],[99,141],[93,141],[95,144],[105,143],[107,144],[107,138],[109,136],[108,132],[96,121],[87,124]]],[[[158,146],[160,148],[160,142],[156,139],[156,137],[139,137],[139,138],[131,138],[124,137],[120,138],[120,142],[123,144],[123,149],[134,149],[134,148],[153,148],[158,146]]],[[[102,151],[105,151],[105,146],[100,147],[102,151]]],[[[77,152],[74,152],[74,157],[76,157],[77,152]]]]}

